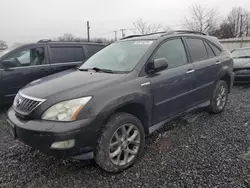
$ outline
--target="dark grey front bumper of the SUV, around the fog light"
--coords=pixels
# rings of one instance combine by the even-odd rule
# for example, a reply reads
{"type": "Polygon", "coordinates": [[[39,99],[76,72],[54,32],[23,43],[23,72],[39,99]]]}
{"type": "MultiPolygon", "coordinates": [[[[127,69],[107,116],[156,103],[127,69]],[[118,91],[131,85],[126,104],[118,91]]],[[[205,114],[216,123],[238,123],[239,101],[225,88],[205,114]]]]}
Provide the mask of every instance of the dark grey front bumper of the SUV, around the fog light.
{"type": "Polygon", "coordinates": [[[14,136],[23,143],[41,152],[59,158],[78,158],[93,150],[98,138],[99,126],[95,118],[73,122],[52,122],[42,120],[25,121],[16,117],[11,107],[7,113],[8,122],[14,130],[14,136]],[[69,149],[51,149],[54,142],[75,139],[75,145],[69,149]]]}

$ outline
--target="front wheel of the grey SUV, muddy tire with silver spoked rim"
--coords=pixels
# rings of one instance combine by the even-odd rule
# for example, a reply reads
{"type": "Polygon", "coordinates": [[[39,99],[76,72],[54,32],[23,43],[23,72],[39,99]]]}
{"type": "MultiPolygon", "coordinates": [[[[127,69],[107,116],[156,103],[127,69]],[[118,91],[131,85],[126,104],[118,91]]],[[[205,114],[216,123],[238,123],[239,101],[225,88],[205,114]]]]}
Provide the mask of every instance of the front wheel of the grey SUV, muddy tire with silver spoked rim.
{"type": "Polygon", "coordinates": [[[107,172],[121,172],[140,158],[144,145],[145,132],[140,120],[128,113],[116,113],[101,133],[95,161],[107,172]]]}

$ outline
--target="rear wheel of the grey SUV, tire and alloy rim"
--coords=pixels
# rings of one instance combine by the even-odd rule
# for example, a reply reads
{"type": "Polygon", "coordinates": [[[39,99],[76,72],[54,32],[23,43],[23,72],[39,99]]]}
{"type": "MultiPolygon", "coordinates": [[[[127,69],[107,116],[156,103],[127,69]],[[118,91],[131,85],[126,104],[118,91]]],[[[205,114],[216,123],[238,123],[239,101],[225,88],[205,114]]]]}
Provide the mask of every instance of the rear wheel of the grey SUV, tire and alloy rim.
{"type": "Polygon", "coordinates": [[[209,112],[218,114],[225,109],[228,99],[228,85],[224,80],[220,80],[216,83],[213,91],[213,96],[210,99],[209,112]],[[224,94],[222,90],[224,88],[224,94]],[[218,102],[220,100],[220,102],[218,102]]]}

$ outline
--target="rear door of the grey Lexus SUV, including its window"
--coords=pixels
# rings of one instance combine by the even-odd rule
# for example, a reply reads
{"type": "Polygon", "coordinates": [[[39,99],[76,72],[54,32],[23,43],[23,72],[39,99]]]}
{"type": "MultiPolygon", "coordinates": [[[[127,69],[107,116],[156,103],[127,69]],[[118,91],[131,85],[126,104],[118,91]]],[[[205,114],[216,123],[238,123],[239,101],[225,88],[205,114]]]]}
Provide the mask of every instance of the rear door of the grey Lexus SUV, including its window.
{"type": "Polygon", "coordinates": [[[199,104],[210,98],[214,82],[221,69],[221,60],[207,40],[186,37],[186,43],[195,66],[194,103],[199,104]]]}

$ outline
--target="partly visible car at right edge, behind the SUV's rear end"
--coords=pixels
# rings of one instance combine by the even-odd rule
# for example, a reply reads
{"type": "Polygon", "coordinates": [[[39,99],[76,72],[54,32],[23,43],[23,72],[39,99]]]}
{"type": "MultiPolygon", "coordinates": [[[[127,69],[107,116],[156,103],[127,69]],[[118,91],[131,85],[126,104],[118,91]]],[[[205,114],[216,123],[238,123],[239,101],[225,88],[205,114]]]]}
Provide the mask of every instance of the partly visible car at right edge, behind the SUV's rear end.
{"type": "Polygon", "coordinates": [[[235,83],[250,83],[250,47],[232,51],[235,83]]]}

